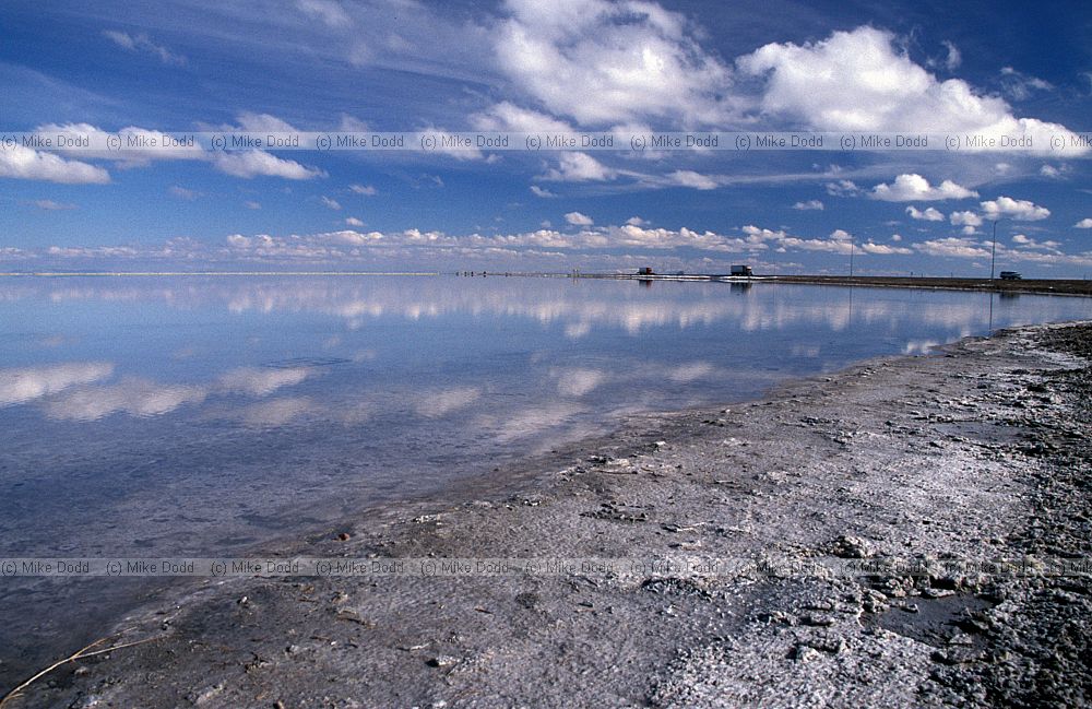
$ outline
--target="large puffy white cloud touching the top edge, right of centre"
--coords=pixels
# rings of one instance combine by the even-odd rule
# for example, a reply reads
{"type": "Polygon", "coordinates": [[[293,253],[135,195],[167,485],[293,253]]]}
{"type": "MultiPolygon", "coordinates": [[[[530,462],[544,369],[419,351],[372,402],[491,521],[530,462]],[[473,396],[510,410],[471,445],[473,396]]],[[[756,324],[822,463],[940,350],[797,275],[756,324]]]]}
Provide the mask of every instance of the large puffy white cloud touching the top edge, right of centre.
{"type": "Polygon", "coordinates": [[[717,123],[729,70],[686,19],[654,2],[509,0],[495,34],[500,70],[527,97],[582,125],[648,117],[717,123]]]}

